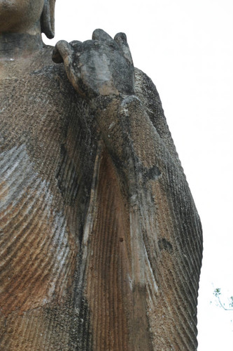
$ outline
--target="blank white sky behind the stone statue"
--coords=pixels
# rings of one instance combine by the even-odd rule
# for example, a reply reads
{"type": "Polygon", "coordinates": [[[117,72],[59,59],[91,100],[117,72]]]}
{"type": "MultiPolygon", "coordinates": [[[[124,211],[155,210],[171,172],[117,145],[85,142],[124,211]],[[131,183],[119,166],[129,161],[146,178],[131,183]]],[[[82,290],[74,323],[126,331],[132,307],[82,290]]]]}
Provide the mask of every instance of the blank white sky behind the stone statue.
{"type": "Polygon", "coordinates": [[[57,0],[53,41],[125,32],[134,65],[157,86],[204,230],[198,351],[233,350],[233,1],[57,0]]]}

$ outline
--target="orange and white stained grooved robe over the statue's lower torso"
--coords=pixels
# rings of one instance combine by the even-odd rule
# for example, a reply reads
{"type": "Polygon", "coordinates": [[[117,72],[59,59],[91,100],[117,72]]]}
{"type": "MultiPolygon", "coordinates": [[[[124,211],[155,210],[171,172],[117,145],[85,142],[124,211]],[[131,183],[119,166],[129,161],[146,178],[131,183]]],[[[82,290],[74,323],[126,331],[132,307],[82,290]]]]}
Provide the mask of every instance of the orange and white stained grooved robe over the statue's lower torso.
{"type": "Polygon", "coordinates": [[[55,335],[68,345],[69,325],[61,323],[64,312],[69,321],[69,312],[62,318],[48,313],[48,323],[43,310],[55,301],[59,309],[76,264],[66,221],[55,213],[48,184],[24,145],[0,154],[0,173],[0,307],[6,318],[1,347],[66,350],[57,348],[55,335]]]}

